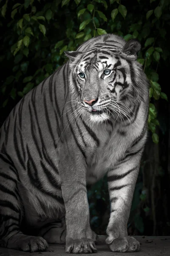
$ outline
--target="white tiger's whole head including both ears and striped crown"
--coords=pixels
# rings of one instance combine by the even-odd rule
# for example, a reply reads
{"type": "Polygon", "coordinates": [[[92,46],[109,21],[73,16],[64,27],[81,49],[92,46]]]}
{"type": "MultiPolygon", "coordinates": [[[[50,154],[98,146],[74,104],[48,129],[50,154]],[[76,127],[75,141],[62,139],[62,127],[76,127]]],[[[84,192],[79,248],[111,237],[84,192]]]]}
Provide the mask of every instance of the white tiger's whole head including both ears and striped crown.
{"type": "Polygon", "coordinates": [[[71,61],[74,99],[91,121],[119,120],[142,99],[146,79],[136,61],[140,47],[135,39],[126,43],[116,35],[103,35],[89,40],[87,50],[82,45],[75,52],[65,52],[71,61]]]}

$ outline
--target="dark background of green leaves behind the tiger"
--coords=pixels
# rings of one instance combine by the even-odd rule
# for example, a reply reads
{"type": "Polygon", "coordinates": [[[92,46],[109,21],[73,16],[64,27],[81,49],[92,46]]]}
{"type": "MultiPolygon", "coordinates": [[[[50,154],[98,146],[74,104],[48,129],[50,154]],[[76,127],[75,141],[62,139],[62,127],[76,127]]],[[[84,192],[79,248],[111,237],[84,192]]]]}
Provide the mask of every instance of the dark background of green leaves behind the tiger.
{"type": "MultiPolygon", "coordinates": [[[[106,33],[137,38],[150,81],[149,136],[128,232],[170,234],[170,0],[1,0],[0,125],[16,103],[67,59],[64,50],[106,33]]],[[[88,187],[92,228],[105,234],[107,177],[88,187]]]]}

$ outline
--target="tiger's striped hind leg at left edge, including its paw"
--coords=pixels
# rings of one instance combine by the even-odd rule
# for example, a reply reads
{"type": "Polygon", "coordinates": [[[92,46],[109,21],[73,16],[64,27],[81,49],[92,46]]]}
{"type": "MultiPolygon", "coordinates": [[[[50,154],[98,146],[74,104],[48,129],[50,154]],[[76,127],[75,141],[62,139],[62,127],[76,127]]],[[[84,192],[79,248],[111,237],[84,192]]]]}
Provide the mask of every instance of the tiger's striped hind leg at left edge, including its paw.
{"type": "Polygon", "coordinates": [[[24,209],[18,180],[14,165],[0,154],[0,246],[26,252],[43,251],[48,247],[45,239],[26,236],[20,230],[24,209]]]}

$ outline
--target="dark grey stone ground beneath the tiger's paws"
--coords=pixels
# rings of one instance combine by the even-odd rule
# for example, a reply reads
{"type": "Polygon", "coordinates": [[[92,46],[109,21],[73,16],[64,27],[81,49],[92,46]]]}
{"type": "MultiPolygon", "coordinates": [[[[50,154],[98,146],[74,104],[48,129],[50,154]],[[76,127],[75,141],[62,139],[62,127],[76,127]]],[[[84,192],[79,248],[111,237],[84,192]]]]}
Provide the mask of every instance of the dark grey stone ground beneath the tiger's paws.
{"type": "MultiPolygon", "coordinates": [[[[141,250],[137,253],[113,253],[105,244],[105,236],[99,236],[96,245],[97,253],[88,256],[170,256],[170,236],[135,236],[141,243],[141,250]]],[[[65,245],[50,244],[45,252],[25,253],[0,247],[0,256],[68,256],[65,245]]],[[[73,255],[73,254],[72,254],[73,255]]],[[[84,255],[85,254],[78,254],[84,255]]]]}

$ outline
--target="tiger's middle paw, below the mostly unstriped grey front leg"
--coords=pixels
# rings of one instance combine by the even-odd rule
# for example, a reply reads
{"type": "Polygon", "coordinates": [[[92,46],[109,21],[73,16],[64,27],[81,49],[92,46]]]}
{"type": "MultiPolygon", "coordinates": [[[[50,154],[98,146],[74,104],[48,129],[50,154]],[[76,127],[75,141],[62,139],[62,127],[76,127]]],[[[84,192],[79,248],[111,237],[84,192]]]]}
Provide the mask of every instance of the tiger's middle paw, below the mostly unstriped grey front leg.
{"type": "Polygon", "coordinates": [[[97,249],[93,239],[67,239],[66,253],[96,253],[97,249]]]}

